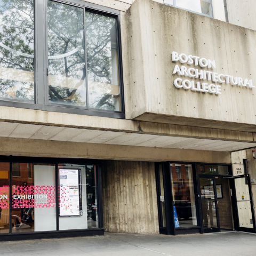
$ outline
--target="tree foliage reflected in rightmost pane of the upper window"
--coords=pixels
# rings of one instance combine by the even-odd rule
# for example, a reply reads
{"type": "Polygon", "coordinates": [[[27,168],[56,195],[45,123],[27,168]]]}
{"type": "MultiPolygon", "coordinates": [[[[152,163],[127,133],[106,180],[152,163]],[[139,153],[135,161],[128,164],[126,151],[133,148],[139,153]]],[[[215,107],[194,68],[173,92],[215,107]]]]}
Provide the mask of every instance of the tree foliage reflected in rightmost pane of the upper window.
{"type": "MultiPolygon", "coordinates": [[[[111,83],[110,30],[113,27],[116,27],[116,19],[86,12],[87,68],[88,77],[92,78],[93,81],[111,83]]],[[[116,30],[113,31],[116,33],[116,30]]],[[[113,95],[90,92],[89,97],[90,107],[115,110],[113,95]]]]}

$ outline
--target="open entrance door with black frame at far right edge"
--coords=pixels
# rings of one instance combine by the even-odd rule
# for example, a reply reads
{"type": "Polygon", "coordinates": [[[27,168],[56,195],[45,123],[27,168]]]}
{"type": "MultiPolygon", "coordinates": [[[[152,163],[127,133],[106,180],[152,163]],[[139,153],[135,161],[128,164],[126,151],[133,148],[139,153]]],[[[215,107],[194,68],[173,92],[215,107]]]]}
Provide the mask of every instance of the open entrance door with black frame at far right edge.
{"type": "Polygon", "coordinates": [[[233,186],[235,193],[232,193],[231,198],[236,208],[236,229],[256,233],[250,174],[239,175],[231,179],[234,179],[235,185],[235,188],[233,186]]]}

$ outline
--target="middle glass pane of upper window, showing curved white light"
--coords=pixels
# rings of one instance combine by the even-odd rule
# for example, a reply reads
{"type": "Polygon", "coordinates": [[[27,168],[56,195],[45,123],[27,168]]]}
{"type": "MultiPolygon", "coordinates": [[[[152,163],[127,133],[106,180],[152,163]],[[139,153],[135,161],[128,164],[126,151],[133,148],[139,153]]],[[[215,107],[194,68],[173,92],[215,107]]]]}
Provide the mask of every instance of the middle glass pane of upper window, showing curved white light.
{"type": "Polygon", "coordinates": [[[49,102],[86,107],[83,9],[47,1],[49,102]]]}

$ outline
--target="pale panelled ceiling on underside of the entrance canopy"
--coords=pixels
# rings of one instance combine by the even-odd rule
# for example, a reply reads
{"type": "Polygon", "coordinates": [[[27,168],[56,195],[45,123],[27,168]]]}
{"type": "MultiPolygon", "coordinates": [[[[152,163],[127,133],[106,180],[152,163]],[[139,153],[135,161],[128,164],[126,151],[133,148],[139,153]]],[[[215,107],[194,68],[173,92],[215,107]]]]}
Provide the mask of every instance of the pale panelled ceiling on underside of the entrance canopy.
{"type": "Polygon", "coordinates": [[[239,151],[256,143],[0,122],[1,137],[123,146],[239,151]]]}

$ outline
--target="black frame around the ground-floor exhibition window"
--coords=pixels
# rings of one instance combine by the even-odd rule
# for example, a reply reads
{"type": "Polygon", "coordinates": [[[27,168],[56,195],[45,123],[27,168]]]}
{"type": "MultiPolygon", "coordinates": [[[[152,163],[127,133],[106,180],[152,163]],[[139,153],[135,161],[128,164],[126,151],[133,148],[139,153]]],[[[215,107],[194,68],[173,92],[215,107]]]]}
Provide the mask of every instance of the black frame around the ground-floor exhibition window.
{"type": "Polygon", "coordinates": [[[10,199],[9,206],[9,233],[0,234],[1,241],[19,241],[26,239],[42,239],[58,237],[78,237],[103,235],[103,206],[102,206],[102,180],[101,172],[104,161],[98,159],[83,159],[83,158],[48,158],[48,157],[22,157],[22,156],[0,156],[0,162],[9,163],[9,198],[12,198],[12,164],[13,163],[29,163],[29,164],[54,164],[55,165],[55,202],[56,202],[56,230],[51,231],[28,231],[21,233],[12,232],[12,200],[10,199]],[[97,202],[98,202],[98,227],[86,229],[59,229],[59,172],[58,164],[81,164],[81,165],[95,165],[96,166],[96,186],[97,186],[97,202]]]}

